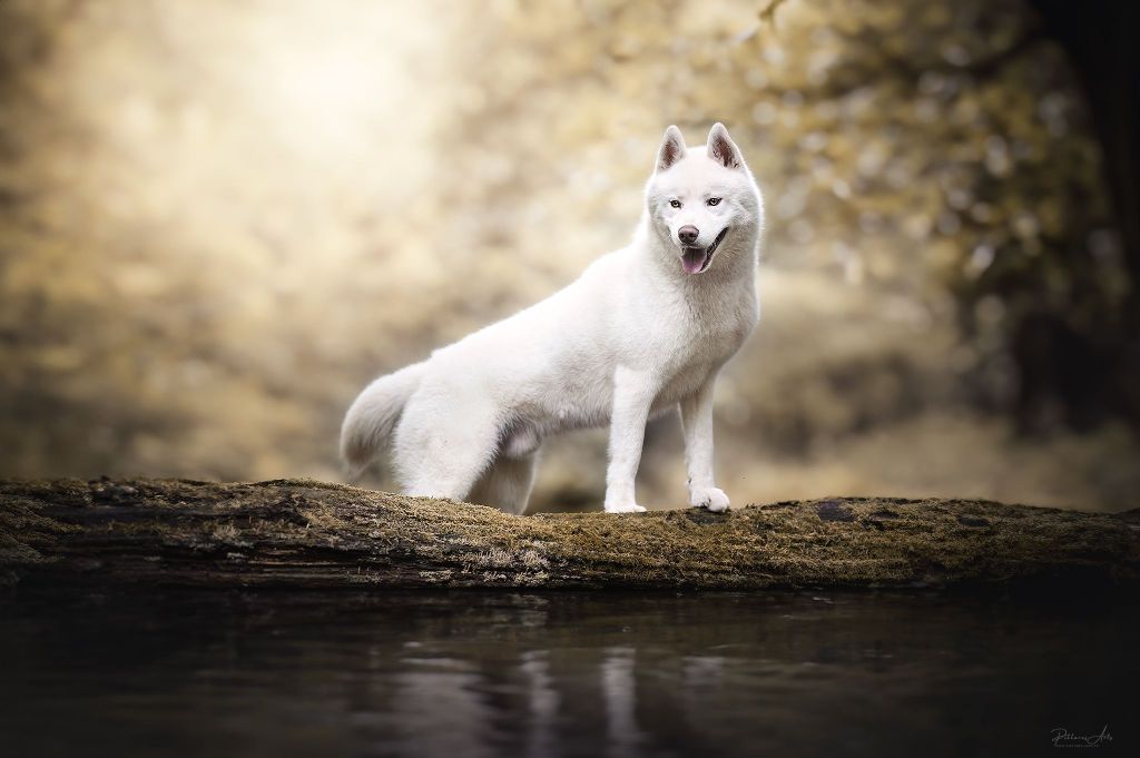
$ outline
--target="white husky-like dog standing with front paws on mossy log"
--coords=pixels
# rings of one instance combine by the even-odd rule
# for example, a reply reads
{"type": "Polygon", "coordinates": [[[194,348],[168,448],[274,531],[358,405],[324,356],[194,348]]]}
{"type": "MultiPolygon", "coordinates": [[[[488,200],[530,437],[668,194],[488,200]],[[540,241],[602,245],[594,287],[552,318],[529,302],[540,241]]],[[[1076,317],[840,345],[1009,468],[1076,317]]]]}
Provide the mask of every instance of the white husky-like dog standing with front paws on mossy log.
{"type": "Polygon", "coordinates": [[[342,456],[359,473],[391,440],[405,492],[522,513],[543,439],[609,423],[605,511],[632,513],[644,511],[634,478],[645,423],[679,406],[689,500],[724,511],[712,385],[759,318],[763,220],[724,125],[692,150],[669,127],[633,242],[546,300],[374,381],[344,417],[342,456]],[[683,245],[686,227],[698,236],[683,245]],[[724,229],[711,260],[690,272],[724,229]]]}

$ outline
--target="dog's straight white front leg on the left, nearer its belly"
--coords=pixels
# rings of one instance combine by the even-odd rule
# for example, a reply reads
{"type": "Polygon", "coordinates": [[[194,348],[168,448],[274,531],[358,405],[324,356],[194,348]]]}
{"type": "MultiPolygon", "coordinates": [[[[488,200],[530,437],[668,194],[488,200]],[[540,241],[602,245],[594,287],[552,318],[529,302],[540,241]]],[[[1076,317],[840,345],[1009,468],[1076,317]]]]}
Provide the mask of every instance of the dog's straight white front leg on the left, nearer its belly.
{"type": "Polygon", "coordinates": [[[605,472],[605,512],[644,511],[634,497],[634,480],[645,440],[645,422],[657,394],[652,376],[618,367],[613,375],[613,409],[610,417],[610,466],[605,472]]]}

